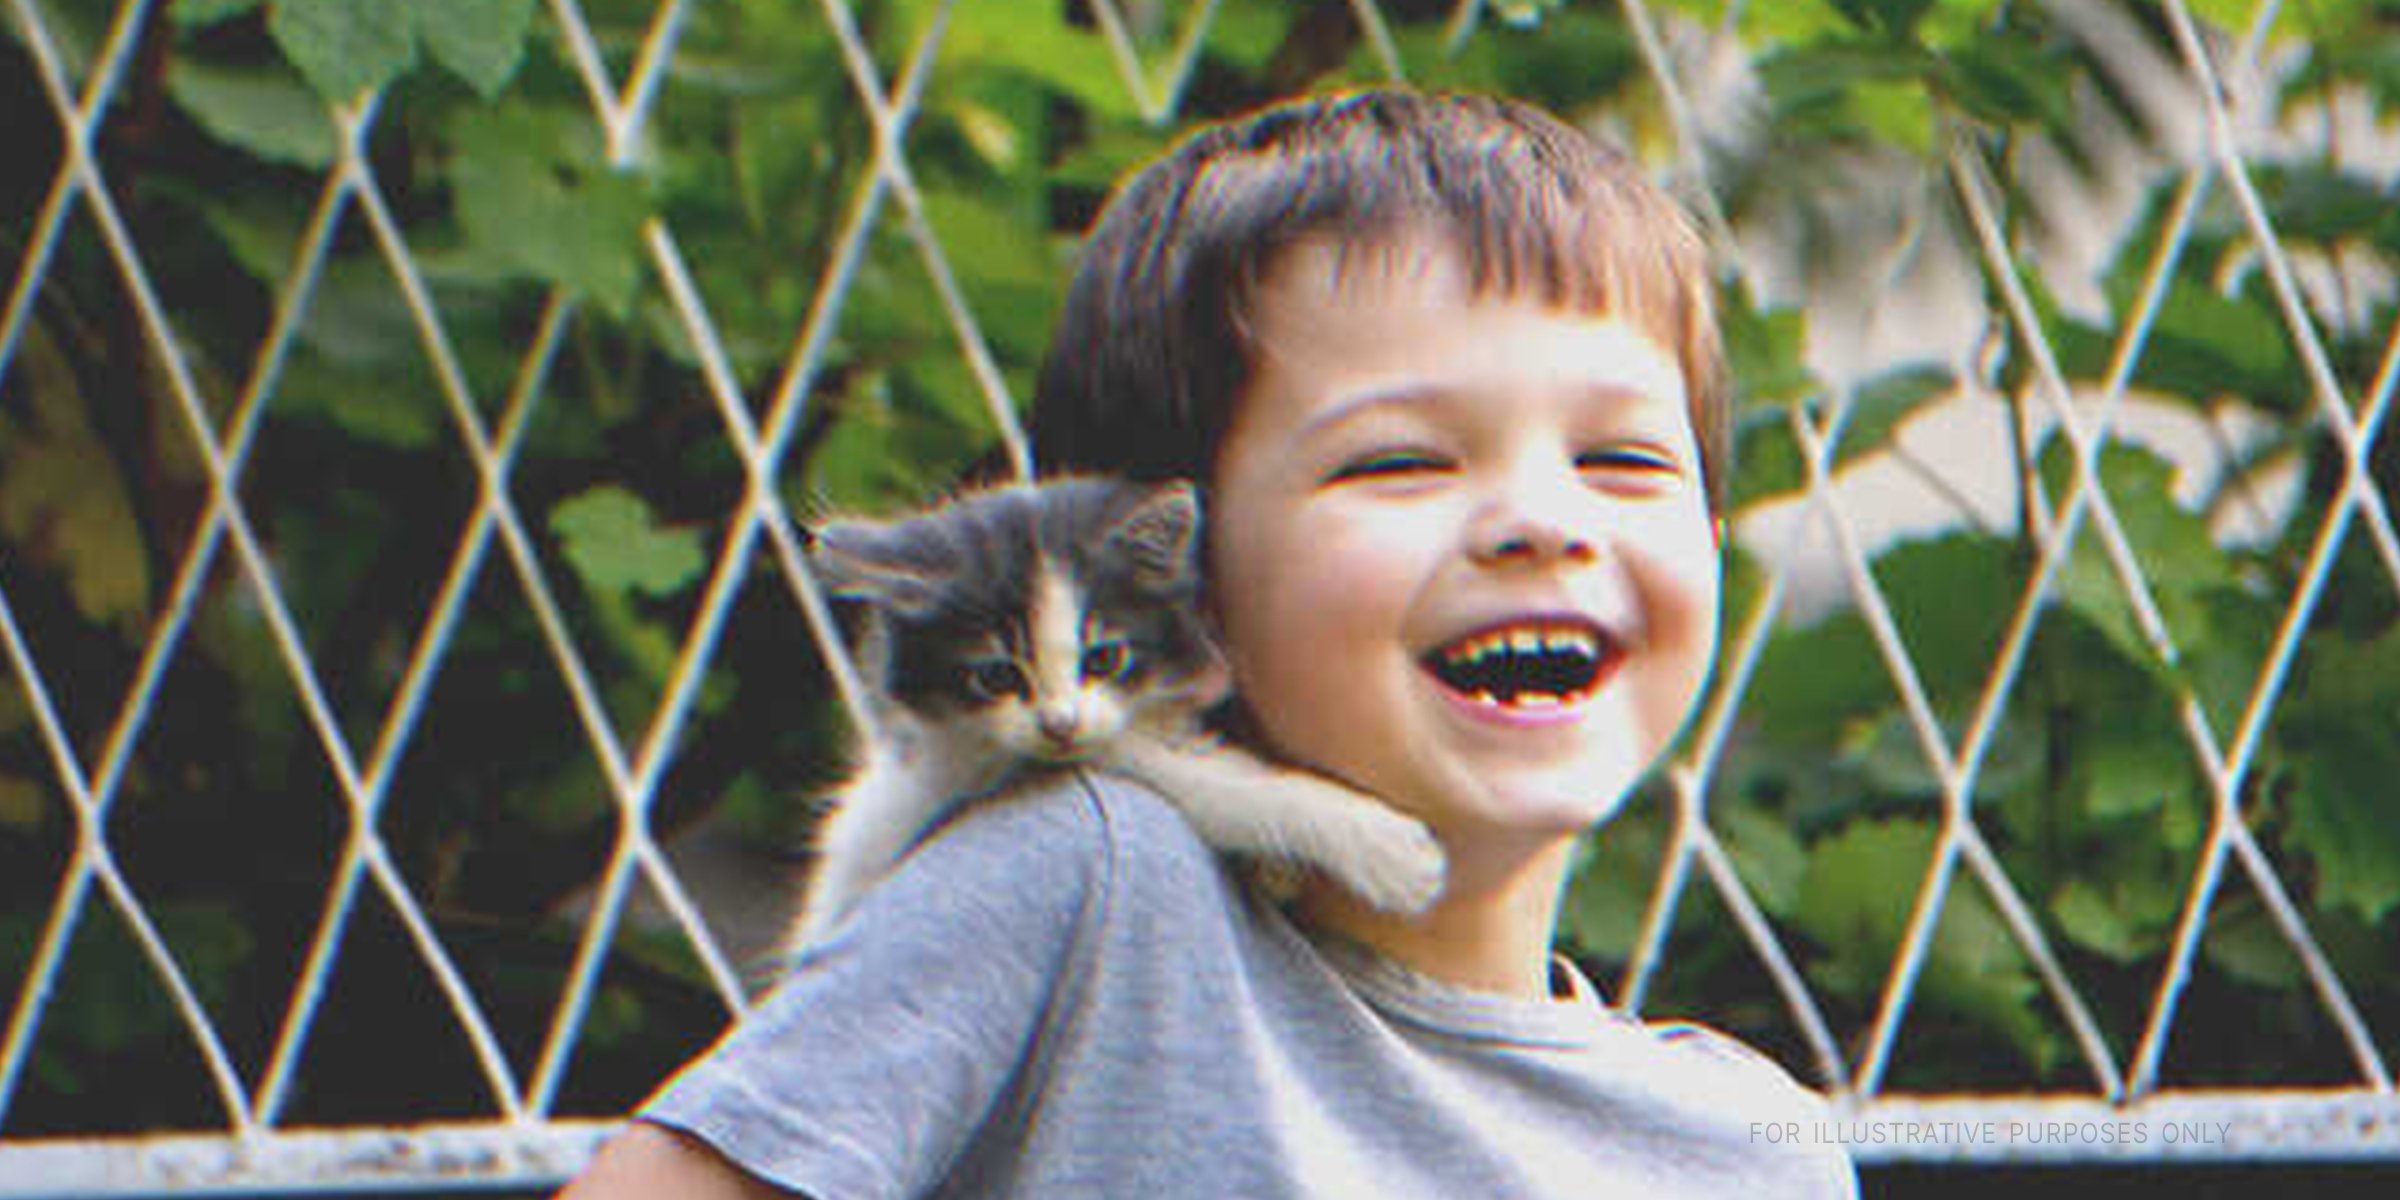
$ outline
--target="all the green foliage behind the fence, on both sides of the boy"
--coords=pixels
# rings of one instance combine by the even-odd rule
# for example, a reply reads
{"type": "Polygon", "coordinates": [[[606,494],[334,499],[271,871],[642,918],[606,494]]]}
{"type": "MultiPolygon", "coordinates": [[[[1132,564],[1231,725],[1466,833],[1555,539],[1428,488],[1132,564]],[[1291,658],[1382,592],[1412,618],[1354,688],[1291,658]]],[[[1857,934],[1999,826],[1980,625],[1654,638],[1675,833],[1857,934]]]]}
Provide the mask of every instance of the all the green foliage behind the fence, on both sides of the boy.
{"type": "MultiPolygon", "coordinates": [[[[1495,19],[1457,41],[1450,5],[1385,5],[1409,79],[1608,115],[1637,146],[1666,146],[1639,41],[1615,7],[1488,7],[1495,19]]],[[[1726,5],[1663,7],[1714,29],[1726,5]]],[[[2237,7],[2196,5],[2220,26],[2246,19],[2237,7]]],[[[31,10],[77,82],[98,70],[103,5],[34,0],[31,10]]],[[[2388,5],[2282,10],[2318,24],[2280,34],[2340,34],[2306,43],[2282,103],[2340,86],[2390,103],[2400,17],[2388,5]]],[[[581,12],[595,34],[588,50],[605,62],[607,103],[626,103],[619,89],[658,36],[653,5],[583,0],[581,12]]],[[[854,12],[890,89],[943,7],[874,0],[854,12]]],[[[2172,60],[2155,10],[2134,17],[2172,60]]],[[[14,271],[41,233],[62,158],[55,113],[29,70],[34,46],[22,24],[12,29],[14,41],[0,41],[0,110],[12,130],[0,245],[14,271]]],[[[2002,180],[2014,230],[2026,233],[2023,149],[2064,139],[2090,106],[2131,106],[2042,5],[1740,5],[1735,31],[1757,53],[1759,110],[1747,149],[1709,163],[1714,199],[1735,226],[1781,199],[1838,204],[1831,175],[1858,154],[1915,163],[1946,194],[1946,156],[1966,146],[2002,180]]],[[[818,5],[689,5],[655,98],[629,110],[643,118],[638,127],[595,118],[586,46],[533,0],[182,0],[149,5],[137,34],[94,149],[190,370],[168,370],[154,353],[106,238],[70,214],[24,334],[0,360],[0,588],[77,754],[96,763],[142,679],[149,638],[185,588],[192,540],[211,521],[209,454],[194,427],[233,439],[221,449],[235,458],[245,538],[259,554],[247,557],[240,538],[221,540],[214,566],[190,583],[192,619],[173,629],[175,655],[154,684],[156,703],[134,720],[134,751],[103,814],[110,847],[163,914],[163,941],[254,1080],[274,1054],[348,823],[374,821],[444,946],[487,996],[506,1054],[528,1070],[619,821],[593,722],[643,746],[660,713],[682,703],[670,684],[751,502],[720,406],[780,437],[768,487],[799,518],[912,502],[989,461],[989,403],[1027,394],[1075,235],[1109,180],[1162,151],[1174,127],[1145,120],[1085,5],[970,0],[948,14],[922,98],[895,134],[914,202],[874,182],[878,134],[818,5]],[[355,120],[365,125],[350,161],[343,137],[355,120]],[[338,190],[350,180],[372,180],[374,202],[338,190]],[[850,257],[845,238],[864,197],[876,197],[876,221],[850,257]],[[331,204],[329,233],[319,204],[331,204]],[[919,218],[941,259],[917,245],[919,218]],[[706,307],[706,334],[684,322],[679,283],[660,274],[665,233],[706,307]],[[317,238],[331,250],[319,271],[302,271],[317,238]],[[955,281],[974,324],[953,322],[936,271],[955,281]],[[828,278],[845,283],[823,288],[828,278]],[[278,334],[286,307],[288,341],[278,334]],[[970,348],[989,353],[989,377],[970,370],[970,348]],[[254,425],[252,394],[262,396],[254,425]],[[502,446],[504,463],[480,461],[468,449],[475,439],[502,446]],[[485,504],[487,470],[514,516],[485,504]],[[461,566],[470,530],[480,550],[461,566]],[[259,574],[274,578],[274,598],[257,588],[259,574]],[[470,583],[446,595],[454,576],[470,583]],[[562,667],[545,648],[545,598],[557,600],[590,670],[598,713],[566,682],[581,667],[562,667]],[[281,641],[283,607],[307,653],[305,677],[281,641]],[[449,648],[439,670],[418,677],[430,631],[449,648]],[[379,806],[353,811],[326,739],[370,761],[418,686],[420,720],[389,734],[396,768],[379,806]],[[326,718],[307,703],[317,689],[326,718]]],[[[1171,19],[1135,22],[1152,86],[1171,77],[1178,36],[1171,19]]],[[[1382,70],[1349,5],[1229,0],[1200,43],[1176,122],[1382,70]]],[[[2028,281],[2069,377],[2110,370],[2174,182],[2158,182],[2150,214],[2117,250],[2102,286],[2110,312],[2071,314],[2040,278],[2028,281]]],[[[2378,262],[2400,252],[2383,180],[2326,158],[2278,161],[2258,185],[2294,250],[2378,262]]],[[[1807,238],[1831,226],[1819,209],[1798,228],[1807,238]]],[[[2134,384],[2196,413],[2239,396],[2278,422],[2266,446],[2309,463],[2302,518],[2266,542],[2227,545],[2206,514],[2237,497],[2186,506],[2158,458],[2124,446],[2100,454],[2093,470],[2107,485],[2107,526],[2122,530],[2146,590],[2141,602],[2129,598],[2098,523],[2086,521],[1970,794],[1978,828],[2095,998],[2119,1061],[2148,1015],[2220,811],[2194,749],[2194,713],[2218,749],[2234,739],[2318,514],[2345,487],[2338,442],[2316,418],[2268,278],[2227,269],[2244,247],[2249,235],[2220,187],[2174,266],[2134,384]],[[2150,610],[2172,653],[2155,648],[2150,610]]],[[[1730,283],[1723,300],[1742,391],[1735,494],[1750,504],[1805,485],[1788,413],[1824,413],[1836,396],[1810,367],[1798,307],[1764,305],[1730,283]]],[[[2371,302],[2369,319],[2321,322],[2347,389],[2374,377],[2374,331],[2390,324],[2388,298],[2371,302]]],[[[2004,341],[1994,384],[2038,403],[2026,334],[2009,329],[2004,341]]],[[[1889,449],[1958,384],[1951,365],[1901,362],[1848,386],[1829,466],[1889,449]]],[[[2038,458],[2028,504],[2054,504],[2074,487],[2076,463],[2059,437],[2038,458]]],[[[2390,497],[2393,451],[2376,451],[2369,470],[2390,497]]],[[[734,581],[689,720],[665,730],[667,766],[646,811],[662,835],[720,821],[768,850],[787,847],[806,826],[797,797],[840,763],[845,722],[830,682],[761,545],[734,581]]],[[[2038,554],[2023,526],[1961,528],[1872,562],[1925,715],[1951,746],[1982,703],[2038,554]]],[[[1738,583],[1735,617],[1759,598],[1747,566],[1738,583]]],[[[2393,578],[2357,523],[2321,595],[2230,799],[2352,996],[2390,1018],[2400,1013],[2400,826],[2388,821],[2386,780],[2400,773],[2400,631],[2393,578]]],[[[14,684],[0,686],[7,982],[31,962],[74,862],[79,816],[58,778],[36,713],[14,684]]],[[[1745,682],[1742,722],[1709,804],[1711,828],[1834,1027],[1855,1037],[1882,1003],[1944,845],[1939,773],[1860,610],[1778,626],[1745,682]]],[[[1601,965],[1632,953],[1649,871],[1668,845],[1656,804],[1603,830],[1570,905],[1570,948],[1601,965]]],[[[403,1025],[449,1039],[451,1051],[394,1049],[408,1044],[398,1034],[389,1046],[334,1039],[324,1063],[300,1068],[295,1118],[444,1114],[478,1090],[456,1030],[439,1015],[418,1020],[442,1001],[372,890],[329,1006],[386,986],[422,996],[403,1006],[403,1025]]],[[[48,1008],[34,1070],[14,1102],[0,1097],[12,1104],[10,1133],[211,1121],[197,1068],[187,1097],[98,1070],[132,1054],[190,1058],[163,1006],[125,998],[158,989],[103,907],[94,900],[70,941],[67,991],[48,1008]]],[[[2170,1054],[2186,1078],[2282,1080],[2292,1063],[2345,1073],[2306,977],[2263,912],[2239,878],[2218,900],[2186,1032],[2170,1054]],[[2206,1037],[2220,1027],[2251,1037],[2206,1037]],[[2239,1054],[2261,1042],[2258,1027],[2280,1061],[2239,1054]]],[[[1670,936],[1678,967],[1649,1008],[1697,1010],[1790,1049],[1790,1022],[1721,907],[1687,902],[1670,936]]],[[[564,1109],[622,1111],[710,1032],[718,1008],[706,974],[677,946],[650,924],[622,938],[564,1109]]],[[[2002,905],[1963,874],[1906,1030],[1898,1085],[2088,1078],[2002,905]]]]}

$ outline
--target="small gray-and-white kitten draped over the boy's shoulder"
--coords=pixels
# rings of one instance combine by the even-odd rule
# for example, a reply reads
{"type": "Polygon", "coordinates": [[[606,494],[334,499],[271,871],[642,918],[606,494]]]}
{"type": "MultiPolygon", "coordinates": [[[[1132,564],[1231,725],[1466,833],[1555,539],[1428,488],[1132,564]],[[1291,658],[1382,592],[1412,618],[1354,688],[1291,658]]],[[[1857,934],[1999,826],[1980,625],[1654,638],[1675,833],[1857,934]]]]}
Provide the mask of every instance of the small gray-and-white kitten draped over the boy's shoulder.
{"type": "Polygon", "coordinates": [[[1200,730],[1226,670],[1198,528],[1188,485],[1085,478],[816,533],[818,581],[864,610],[881,737],[823,823],[794,948],[953,809],[1070,763],[1147,782],[1217,850],[1320,866],[1394,912],[1433,900],[1445,862],[1421,823],[1200,730]]]}

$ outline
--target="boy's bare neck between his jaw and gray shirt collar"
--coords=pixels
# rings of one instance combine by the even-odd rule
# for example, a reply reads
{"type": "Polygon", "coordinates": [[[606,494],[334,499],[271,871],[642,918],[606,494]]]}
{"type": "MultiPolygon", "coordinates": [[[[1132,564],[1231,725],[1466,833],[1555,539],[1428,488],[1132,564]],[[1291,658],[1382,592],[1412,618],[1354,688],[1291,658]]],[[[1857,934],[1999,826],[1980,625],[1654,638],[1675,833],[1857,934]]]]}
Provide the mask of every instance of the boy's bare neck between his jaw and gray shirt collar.
{"type": "Polygon", "coordinates": [[[1452,864],[1430,910],[1380,912],[1339,883],[1313,878],[1298,900],[1306,924],[1358,941],[1428,979],[1517,998],[1550,998],[1550,936],[1572,842],[1514,864],[1452,864]]]}

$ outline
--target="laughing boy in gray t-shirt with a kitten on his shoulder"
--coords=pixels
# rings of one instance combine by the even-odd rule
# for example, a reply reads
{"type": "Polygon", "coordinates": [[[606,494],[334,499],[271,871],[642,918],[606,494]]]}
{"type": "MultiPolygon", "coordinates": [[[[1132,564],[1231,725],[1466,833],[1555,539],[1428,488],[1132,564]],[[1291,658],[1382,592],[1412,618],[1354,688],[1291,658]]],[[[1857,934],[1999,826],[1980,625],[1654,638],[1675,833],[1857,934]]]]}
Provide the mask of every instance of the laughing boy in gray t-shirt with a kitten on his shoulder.
{"type": "Polygon", "coordinates": [[[1234,737],[1435,830],[1421,914],[1286,907],[1114,778],[917,847],[571,1195],[1841,1198],[1766,1058],[1550,953],[1574,840],[1716,650],[1704,252],[1474,96],[1205,130],[1111,199],[1046,468],[1195,478],[1234,737]]]}

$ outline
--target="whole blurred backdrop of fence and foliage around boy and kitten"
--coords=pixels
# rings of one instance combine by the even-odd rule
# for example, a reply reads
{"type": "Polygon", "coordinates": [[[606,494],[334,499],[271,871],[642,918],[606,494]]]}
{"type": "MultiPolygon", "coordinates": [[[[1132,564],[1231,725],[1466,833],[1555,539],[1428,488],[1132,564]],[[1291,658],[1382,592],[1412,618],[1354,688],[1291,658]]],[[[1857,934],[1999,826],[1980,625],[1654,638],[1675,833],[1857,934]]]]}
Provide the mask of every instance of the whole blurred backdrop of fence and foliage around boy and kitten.
{"type": "Polygon", "coordinates": [[[1718,252],[1726,653],[1560,948],[1870,1195],[2400,1183],[2400,2],[0,29],[0,1195],[574,1171],[840,780],[797,526],[1022,451],[1123,170],[1382,82],[1718,252]]]}

